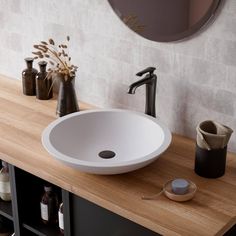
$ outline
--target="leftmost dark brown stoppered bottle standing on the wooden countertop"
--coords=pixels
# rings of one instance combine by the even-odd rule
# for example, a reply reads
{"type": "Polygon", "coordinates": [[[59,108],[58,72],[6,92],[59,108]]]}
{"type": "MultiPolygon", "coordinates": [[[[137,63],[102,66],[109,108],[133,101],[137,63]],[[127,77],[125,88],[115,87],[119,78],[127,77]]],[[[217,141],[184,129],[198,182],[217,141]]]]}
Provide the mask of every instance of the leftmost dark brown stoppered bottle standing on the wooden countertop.
{"type": "Polygon", "coordinates": [[[33,61],[32,57],[25,58],[27,68],[22,71],[23,93],[28,96],[36,94],[35,77],[38,71],[33,68],[33,61]]]}

